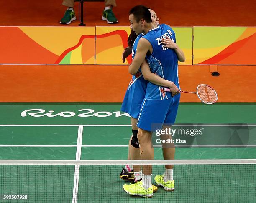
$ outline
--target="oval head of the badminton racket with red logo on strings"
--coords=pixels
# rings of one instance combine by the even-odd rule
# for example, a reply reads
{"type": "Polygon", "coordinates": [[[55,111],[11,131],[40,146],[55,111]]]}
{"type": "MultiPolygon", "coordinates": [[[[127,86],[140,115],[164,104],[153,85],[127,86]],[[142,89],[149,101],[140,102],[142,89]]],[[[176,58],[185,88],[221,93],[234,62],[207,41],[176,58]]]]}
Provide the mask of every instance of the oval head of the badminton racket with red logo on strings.
{"type": "Polygon", "coordinates": [[[214,104],[218,100],[216,91],[205,84],[197,86],[197,96],[205,104],[214,104]]]}

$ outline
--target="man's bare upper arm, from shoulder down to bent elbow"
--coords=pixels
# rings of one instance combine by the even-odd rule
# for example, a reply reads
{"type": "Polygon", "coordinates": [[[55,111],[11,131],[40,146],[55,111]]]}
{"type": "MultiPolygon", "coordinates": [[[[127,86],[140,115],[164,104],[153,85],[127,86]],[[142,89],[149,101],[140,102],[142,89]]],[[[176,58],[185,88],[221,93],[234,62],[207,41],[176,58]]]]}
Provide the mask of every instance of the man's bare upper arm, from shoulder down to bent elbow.
{"type": "Polygon", "coordinates": [[[140,68],[142,62],[146,58],[147,52],[149,50],[151,50],[150,48],[151,48],[151,44],[145,38],[141,38],[138,41],[136,55],[135,55],[135,57],[133,59],[133,62],[129,66],[129,73],[131,75],[134,75],[134,74],[136,74],[138,72],[138,69],[140,68]]]}

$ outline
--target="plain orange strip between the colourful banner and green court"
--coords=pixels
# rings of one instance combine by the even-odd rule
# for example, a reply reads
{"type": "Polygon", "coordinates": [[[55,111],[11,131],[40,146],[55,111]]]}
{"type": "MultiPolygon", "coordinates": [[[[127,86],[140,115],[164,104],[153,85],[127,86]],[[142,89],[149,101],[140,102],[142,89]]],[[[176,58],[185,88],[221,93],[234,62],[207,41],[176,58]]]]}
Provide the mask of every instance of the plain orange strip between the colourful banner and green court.
{"type": "MultiPolygon", "coordinates": [[[[1,65],[1,102],[122,102],[131,80],[127,66],[117,65],[1,65]]],[[[207,84],[218,102],[256,102],[255,66],[218,66],[213,77],[208,65],[179,66],[182,90],[207,84]]],[[[182,93],[181,102],[200,102],[182,93]]]]}

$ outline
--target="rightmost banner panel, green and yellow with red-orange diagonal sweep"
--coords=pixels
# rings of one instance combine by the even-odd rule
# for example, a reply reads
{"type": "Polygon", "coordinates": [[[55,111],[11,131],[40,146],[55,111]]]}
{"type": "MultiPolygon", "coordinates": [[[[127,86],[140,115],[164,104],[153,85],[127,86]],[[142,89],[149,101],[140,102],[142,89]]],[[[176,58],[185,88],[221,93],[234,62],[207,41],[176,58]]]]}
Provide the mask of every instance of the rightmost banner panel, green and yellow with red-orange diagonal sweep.
{"type": "Polygon", "coordinates": [[[193,64],[256,65],[256,28],[194,27],[193,64]]]}

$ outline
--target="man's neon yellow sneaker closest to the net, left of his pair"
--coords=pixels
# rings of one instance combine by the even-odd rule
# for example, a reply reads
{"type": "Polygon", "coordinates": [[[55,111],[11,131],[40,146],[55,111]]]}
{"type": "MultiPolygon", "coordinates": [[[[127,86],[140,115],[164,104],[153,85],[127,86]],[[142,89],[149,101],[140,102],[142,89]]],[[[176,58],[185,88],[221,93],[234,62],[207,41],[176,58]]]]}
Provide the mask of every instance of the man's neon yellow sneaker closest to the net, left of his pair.
{"type": "Polygon", "coordinates": [[[145,189],[142,185],[142,181],[130,185],[123,185],[123,189],[126,193],[133,196],[141,196],[144,198],[151,198],[153,196],[153,185],[150,188],[145,189]]]}

